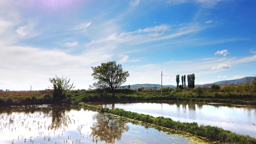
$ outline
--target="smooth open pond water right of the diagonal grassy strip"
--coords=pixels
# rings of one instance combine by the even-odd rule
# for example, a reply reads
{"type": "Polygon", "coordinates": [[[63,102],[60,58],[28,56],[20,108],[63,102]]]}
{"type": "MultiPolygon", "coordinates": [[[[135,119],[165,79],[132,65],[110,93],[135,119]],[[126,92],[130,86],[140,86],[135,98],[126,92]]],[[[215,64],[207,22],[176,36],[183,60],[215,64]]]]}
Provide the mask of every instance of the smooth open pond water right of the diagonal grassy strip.
{"type": "Polygon", "coordinates": [[[256,138],[256,107],[182,102],[137,102],[97,104],[108,108],[164,116],[180,122],[197,122],[256,138]]]}

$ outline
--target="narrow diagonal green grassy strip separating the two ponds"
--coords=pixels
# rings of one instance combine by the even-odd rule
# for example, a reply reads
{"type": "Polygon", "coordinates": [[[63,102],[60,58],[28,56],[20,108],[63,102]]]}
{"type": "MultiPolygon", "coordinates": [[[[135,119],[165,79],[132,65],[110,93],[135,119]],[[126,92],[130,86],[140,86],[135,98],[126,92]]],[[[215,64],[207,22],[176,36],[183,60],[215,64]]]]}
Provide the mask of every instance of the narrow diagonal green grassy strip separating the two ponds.
{"type": "Polygon", "coordinates": [[[188,123],[188,122],[176,122],[171,118],[164,117],[153,117],[145,114],[138,114],[136,112],[125,111],[123,109],[109,109],[103,108],[101,106],[94,106],[85,103],[79,103],[80,106],[91,108],[93,110],[98,110],[100,112],[107,112],[110,114],[115,114],[118,116],[123,116],[126,118],[139,120],[142,122],[147,122],[150,124],[155,124],[158,126],[163,126],[166,128],[172,128],[174,130],[179,130],[183,132],[188,132],[190,134],[194,134],[196,136],[202,136],[208,138],[210,140],[231,143],[231,144],[256,144],[256,138],[252,138],[248,135],[240,135],[229,130],[224,130],[222,128],[218,128],[216,126],[205,126],[200,125],[196,122],[188,123]]]}

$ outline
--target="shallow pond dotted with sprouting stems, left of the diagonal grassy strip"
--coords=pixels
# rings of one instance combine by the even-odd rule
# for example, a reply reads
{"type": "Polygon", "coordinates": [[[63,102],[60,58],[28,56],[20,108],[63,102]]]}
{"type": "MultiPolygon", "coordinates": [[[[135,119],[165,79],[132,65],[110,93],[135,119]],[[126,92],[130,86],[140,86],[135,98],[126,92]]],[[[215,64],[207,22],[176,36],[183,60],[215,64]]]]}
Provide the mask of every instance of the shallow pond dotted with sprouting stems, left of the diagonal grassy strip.
{"type": "Polygon", "coordinates": [[[209,141],[127,118],[101,114],[79,106],[0,107],[1,144],[200,142],[209,141]]]}

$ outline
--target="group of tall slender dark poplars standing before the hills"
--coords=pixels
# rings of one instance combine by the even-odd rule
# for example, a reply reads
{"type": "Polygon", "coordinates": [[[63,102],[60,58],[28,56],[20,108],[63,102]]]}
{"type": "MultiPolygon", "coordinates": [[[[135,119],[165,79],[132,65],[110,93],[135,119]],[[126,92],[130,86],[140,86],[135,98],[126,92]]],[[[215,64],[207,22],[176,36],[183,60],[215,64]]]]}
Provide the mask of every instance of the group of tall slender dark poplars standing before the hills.
{"type": "MultiPolygon", "coordinates": [[[[195,87],[195,79],[196,76],[195,74],[188,74],[187,75],[188,79],[188,88],[194,88],[195,87]]],[[[181,85],[180,85],[180,75],[176,75],[176,83],[177,83],[177,88],[186,88],[186,75],[181,76],[181,85]]]]}

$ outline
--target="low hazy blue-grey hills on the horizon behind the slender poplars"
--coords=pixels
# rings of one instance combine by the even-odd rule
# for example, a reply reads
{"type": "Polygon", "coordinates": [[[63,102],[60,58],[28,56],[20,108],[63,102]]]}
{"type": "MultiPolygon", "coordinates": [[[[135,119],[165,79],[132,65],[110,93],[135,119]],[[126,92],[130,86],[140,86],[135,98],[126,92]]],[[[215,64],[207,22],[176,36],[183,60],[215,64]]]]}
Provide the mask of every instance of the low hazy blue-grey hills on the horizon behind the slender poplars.
{"type": "MultiPolygon", "coordinates": [[[[248,76],[248,77],[244,77],[244,78],[240,78],[240,79],[236,79],[236,80],[222,80],[222,81],[213,82],[210,84],[196,84],[196,86],[212,86],[212,84],[218,84],[220,86],[230,85],[230,84],[244,84],[244,82],[246,82],[246,78],[248,78],[249,82],[251,83],[253,76],[248,76]]],[[[120,86],[120,87],[123,87],[123,86],[120,86]]],[[[142,87],[144,87],[144,88],[161,88],[161,84],[133,84],[133,85],[130,85],[130,87],[131,87],[131,89],[142,88],[142,87]]],[[[163,87],[176,88],[176,86],[174,86],[174,85],[163,85],[163,87]]],[[[128,85],[124,86],[124,88],[128,88],[128,85]]]]}

